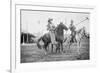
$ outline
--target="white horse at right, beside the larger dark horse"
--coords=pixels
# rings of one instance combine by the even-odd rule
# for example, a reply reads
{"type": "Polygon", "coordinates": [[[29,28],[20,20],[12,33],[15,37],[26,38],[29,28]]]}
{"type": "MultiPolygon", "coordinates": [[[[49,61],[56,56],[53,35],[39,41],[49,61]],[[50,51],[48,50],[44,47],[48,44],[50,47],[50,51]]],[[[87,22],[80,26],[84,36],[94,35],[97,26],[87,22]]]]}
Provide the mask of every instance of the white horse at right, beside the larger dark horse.
{"type": "Polygon", "coordinates": [[[70,49],[70,46],[73,44],[73,43],[77,43],[77,46],[78,46],[78,54],[80,53],[79,52],[79,48],[81,47],[81,40],[86,37],[88,38],[88,36],[86,35],[86,31],[85,31],[85,27],[75,31],[75,35],[74,37],[71,37],[71,35],[69,37],[66,37],[66,39],[64,40],[67,41],[67,44],[69,45],[69,49],[70,49]],[[74,39],[74,41],[72,41],[72,39],[74,39]]]}

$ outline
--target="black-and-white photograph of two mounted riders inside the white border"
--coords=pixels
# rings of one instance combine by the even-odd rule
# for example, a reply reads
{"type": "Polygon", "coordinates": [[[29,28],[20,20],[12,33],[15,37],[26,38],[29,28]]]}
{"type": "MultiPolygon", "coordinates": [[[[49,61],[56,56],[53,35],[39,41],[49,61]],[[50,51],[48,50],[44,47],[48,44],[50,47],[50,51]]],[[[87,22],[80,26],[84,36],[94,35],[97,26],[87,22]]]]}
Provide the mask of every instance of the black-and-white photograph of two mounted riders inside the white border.
{"type": "Polygon", "coordinates": [[[90,59],[90,13],[20,10],[20,62],[90,59]]]}

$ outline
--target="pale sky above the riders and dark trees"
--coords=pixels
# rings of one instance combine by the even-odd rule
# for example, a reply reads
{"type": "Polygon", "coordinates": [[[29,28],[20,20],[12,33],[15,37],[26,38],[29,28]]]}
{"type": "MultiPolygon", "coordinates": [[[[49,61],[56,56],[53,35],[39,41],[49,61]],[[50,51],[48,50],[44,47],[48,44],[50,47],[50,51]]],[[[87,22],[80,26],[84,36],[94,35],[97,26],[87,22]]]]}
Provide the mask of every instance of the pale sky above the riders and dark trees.
{"type": "Polygon", "coordinates": [[[67,27],[69,27],[70,21],[73,20],[77,30],[85,26],[86,31],[89,32],[89,20],[76,25],[86,17],[89,18],[90,14],[24,10],[21,11],[21,29],[23,32],[42,35],[48,32],[46,27],[46,25],[48,24],[48,18],[53,18],[53,24],[55,26],[57,26],[60,22],[63,22],[67,27]]]}

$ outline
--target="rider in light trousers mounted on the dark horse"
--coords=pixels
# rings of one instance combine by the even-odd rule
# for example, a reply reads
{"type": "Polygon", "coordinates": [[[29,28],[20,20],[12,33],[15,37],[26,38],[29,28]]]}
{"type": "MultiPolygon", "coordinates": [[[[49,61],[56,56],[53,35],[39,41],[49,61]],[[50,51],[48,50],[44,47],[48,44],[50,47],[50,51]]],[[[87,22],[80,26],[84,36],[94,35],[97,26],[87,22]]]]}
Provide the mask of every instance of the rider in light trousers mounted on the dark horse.
{"type": "Polygon", "coordinates": [[[52,21],[53,19],[51,18],[48,19],[47,30],[49,30],[49,33],[50,33],[51,43],[57,44],[55,40],[55,25],[52,23],[52,21]]]}

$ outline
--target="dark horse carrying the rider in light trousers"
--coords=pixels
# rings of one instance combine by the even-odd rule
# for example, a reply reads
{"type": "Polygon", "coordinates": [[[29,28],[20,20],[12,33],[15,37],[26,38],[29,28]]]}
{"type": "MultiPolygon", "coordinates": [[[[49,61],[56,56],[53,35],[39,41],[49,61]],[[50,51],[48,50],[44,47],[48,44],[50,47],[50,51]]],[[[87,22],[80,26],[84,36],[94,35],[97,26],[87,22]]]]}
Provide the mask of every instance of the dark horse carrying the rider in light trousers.
{"type": "MultiPolygon", "coordinates": [[[[58,47],[56,48],[56,52],[60,49],[61,51],[63,51],[63,40],[64,40],[64,31],[63,30],[68,30],[68,28],[63,24],[60,23],[56,28],[55,28],[55,39],[58,42],[58,47]]],[[[37,41],[37,46],[38,48],[43,48],[45,49],[45,51],[47,52],[47,47],[49,46],[49,44],[51,43],[51,38],[50,38],[50,34],[49,33],[45,33],[43,36],[41,36],[38,41],[37,41]],[[40,41],[44,42],[43,47],[41,47],[41,45],[39,44],[40,41]]],[[[52,52],[53,52],[53,44],[52,44],[52,52]]]]}

